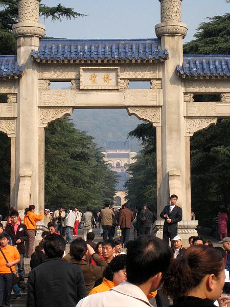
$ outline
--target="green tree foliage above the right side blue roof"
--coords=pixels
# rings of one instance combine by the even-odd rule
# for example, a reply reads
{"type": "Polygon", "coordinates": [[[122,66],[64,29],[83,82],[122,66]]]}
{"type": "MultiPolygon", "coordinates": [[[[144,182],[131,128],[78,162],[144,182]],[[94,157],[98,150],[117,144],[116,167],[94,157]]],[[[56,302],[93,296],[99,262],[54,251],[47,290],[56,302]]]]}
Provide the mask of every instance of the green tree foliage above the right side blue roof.
{"type": "Polygon", "coordinates": [[[230,14],[207,18],[197,28],[195,39],[183,46],[185,54],[229,54],[230,14]]]}

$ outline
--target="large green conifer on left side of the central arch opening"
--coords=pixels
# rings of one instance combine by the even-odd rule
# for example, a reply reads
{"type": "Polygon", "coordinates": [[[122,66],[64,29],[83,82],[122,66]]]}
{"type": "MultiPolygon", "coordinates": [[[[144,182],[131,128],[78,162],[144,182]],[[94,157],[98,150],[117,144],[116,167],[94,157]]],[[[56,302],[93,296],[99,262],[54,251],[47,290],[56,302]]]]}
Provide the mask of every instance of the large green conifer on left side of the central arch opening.
{"type": "Polygon", "coordinates": [[[45,131],[45,206],[82,210],[100,208],[115,193],[116,175],[103,161],[93,137],[74,127],[68,118],[45,131]]]}

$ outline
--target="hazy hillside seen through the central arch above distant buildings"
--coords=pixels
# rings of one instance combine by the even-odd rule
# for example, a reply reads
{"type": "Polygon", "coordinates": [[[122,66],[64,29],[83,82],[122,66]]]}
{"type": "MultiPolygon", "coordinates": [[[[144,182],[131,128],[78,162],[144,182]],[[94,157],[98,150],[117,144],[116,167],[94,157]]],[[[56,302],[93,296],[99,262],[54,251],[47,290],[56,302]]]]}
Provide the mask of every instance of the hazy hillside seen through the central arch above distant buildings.
{"type": "MultiPolygon", "coordinates": [[[[126,139],[129,131],[142,121],[135,116],[128,116],[125,109],[76,109],[71,117],[76,127],[95,137],[99,147],[107,139],[126,139]]],[[[134,151],[139,151],[138,142],[131,140],[134,151]]]]}

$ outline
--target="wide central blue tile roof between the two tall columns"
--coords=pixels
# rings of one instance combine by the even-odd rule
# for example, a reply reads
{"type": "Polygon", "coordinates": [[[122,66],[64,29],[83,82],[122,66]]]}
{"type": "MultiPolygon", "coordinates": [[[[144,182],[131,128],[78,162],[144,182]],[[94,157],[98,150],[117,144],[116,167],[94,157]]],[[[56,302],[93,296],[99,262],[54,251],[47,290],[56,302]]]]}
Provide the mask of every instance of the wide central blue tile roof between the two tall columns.
{"type": "Polygon", "coordinates": [[[163,60],[159,39],[41,39],[31,56],[38,62],[56,60],[163,60]]]}

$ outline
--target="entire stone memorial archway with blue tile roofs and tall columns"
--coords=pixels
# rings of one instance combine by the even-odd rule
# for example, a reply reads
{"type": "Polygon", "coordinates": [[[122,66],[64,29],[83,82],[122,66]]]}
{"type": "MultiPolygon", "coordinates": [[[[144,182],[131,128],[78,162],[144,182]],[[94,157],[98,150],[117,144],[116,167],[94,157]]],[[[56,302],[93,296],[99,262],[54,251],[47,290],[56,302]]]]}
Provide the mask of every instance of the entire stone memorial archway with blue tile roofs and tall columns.
{"type": "MultiPolygon", "coordinates": [[[[169,195],[179,196],[183,238],[196,234],[191,221],[190,137],[230,117],[230,56],[183,55],[187,34],[182,0],[159,0],[157,39],[42,39],[39,1],[19,0],[13,26],[17,56],[0,56],[0,130],[11,137],[11,202],[22,213],[44,208],[44,129],[75,108],[126,108],[151,122],[157,136],[157,215],[169,195]],[[32,13],[31,13],[32,11],[32,13]],[[71,90],[51,90],[51,81],[71,81],[71,90]],[[130,90],[129,81],[149,81],[149,90],[130,90]],[[221,101],[194,102],[195,94],[221,101]]],[[[156,221],[161,235],[163,221],[156,221]]]]}

